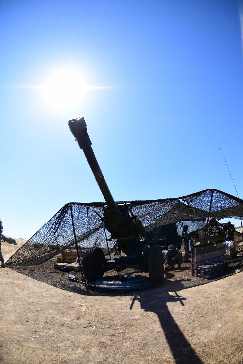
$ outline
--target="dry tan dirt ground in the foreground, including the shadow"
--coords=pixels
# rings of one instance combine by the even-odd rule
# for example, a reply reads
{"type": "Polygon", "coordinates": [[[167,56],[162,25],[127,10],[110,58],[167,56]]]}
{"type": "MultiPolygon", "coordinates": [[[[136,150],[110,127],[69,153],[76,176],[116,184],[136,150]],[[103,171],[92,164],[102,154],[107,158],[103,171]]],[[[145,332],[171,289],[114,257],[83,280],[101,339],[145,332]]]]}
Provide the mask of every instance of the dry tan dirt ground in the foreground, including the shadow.
{"type": "Polygon", "coordinates": [[[188,264],[118,293],[87,292],[53,262],[0,269],[0,363],[240,364],[241,270],[211,282],[188,264]]]}

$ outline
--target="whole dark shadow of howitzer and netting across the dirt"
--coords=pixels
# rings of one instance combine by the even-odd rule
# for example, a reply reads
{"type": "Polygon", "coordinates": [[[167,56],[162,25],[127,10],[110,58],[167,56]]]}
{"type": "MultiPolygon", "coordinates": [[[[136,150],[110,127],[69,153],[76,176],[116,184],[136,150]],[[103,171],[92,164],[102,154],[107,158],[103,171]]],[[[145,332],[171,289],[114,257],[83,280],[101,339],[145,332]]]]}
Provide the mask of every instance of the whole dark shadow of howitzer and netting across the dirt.
{"type": "MultiPolygon", "coordinates": [[[[176,324],[176,321],[169,312],[167,302],[180,302],[180,304],[184,306],[186,298],[181,296],[181,292],[183,292],[184,289],[204,285],[225,277],[221,276],[210,281],[198,277],[192,277],[190,264],[185,264],[181,270],[175,269],[173,271],[166,272],[165,280],[161,285],[152,286],[144,290],[129,290],[125,292],[102,290],[101,292],[98,292],[93,288],[86,289],[85,285],[80,283],[70,282],[68,280],[68,274],[70,273],[64,273],[54,269],[54,263],[50,261],[37,266],[22,266],[11,269],[56,288],[82,295],[117,296],[118,294],[121,294],[131,296],[131,310],[133,309],[134,302],[137,300],[140,302],[141,309],[147,312],[154,312],[158,316],[161,328],[165,334],[176,364],[202,364],[203,362],[197,356],[196,352],[191,347],[191,344],[189,344],[183,332],[176,324]]],[[[239,268],[231,266],[230,272],[227,276],[236,274],[242,270],[243,267],[239,268]]],[[[126,270],[126,272],[127,271],[128,270],[126,270]]],[[[132,270],[130,270],[130,272],[132,273],[132,270]]],[[[79,272],[76,274],[77,276],[80,276],[79,272]]],[[[106,273],[105,275],[110,276],[111,274],[114,275],[114,272],[109,272],[109,274],[106,273]]],[[[136,274],[148,276],[148,273],[144,272],[136,272],[136,274]]]]}

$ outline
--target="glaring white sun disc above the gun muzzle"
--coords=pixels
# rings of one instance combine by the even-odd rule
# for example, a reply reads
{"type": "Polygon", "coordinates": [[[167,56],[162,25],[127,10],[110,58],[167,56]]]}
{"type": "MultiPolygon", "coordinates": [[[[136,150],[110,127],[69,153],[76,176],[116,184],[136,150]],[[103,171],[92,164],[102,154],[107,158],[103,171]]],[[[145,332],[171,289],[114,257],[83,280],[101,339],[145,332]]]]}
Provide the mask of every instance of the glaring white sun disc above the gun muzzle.
{"type": "Polygon", "coordinates": [[[78,73],[59,71],[47,80],[42,89],[49,104],[58,108],[67,108],[81,101],[84,85],[78,73]]]}

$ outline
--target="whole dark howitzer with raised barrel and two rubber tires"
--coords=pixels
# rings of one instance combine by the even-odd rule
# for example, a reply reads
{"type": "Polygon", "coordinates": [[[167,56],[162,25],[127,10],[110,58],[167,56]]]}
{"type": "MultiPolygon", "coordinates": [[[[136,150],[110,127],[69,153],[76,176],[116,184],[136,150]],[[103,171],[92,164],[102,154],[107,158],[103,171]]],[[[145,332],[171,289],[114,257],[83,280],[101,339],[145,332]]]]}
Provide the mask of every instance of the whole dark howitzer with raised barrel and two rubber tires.
{"type": "Polygon", "coordinates": [[[155,282],[161,282],[164,277],[161,246],[146,244],[145,228],[132,213],[130,203],[115,203],[95,158],[83,116],[69,120],[68,126],[79,147],[83,150],[105,198],[106,205],[102,208],[103,217],[97,214],[105,224],[105,229],[111,234],[110,239],[116,240],[118,248],[117,254],[110,260],[105,259],[101,248],[88,249],[83,258],[83,270],[86,278],[96,280],[111,269],[121,272],[126,268],[148,268],[150,278],[155,282]],[[126,254],[126,257],[119,254],[121,251],[126,254]]]}

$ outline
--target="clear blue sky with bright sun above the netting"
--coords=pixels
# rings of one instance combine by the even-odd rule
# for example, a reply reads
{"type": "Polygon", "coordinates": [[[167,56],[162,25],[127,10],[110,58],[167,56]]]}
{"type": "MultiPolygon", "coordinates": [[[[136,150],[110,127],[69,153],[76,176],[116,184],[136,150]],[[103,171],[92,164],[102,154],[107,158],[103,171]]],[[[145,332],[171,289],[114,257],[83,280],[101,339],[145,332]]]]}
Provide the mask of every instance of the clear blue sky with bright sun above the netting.
{"type": "Polygon", "coordinates": [[[243,63],[233,0],[2,0],[4,234],[103,201],[70,133],[83,115],[115,200],[242,186],[243,63]]]}

